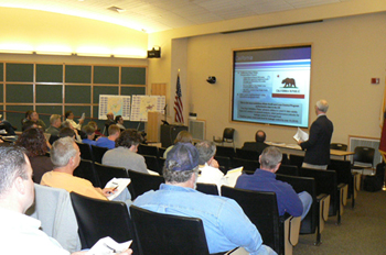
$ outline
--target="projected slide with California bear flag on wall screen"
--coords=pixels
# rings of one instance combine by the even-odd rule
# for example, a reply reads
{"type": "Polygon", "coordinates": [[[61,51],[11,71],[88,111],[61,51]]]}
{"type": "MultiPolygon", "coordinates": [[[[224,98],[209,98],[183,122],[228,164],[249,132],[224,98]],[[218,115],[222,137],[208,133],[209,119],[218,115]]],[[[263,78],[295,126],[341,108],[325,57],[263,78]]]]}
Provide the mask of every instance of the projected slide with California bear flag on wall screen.
{"type": "Polygon", "coordinates": [[[308,127],[311,46],[234,53],[233,121],[308,127]]]}

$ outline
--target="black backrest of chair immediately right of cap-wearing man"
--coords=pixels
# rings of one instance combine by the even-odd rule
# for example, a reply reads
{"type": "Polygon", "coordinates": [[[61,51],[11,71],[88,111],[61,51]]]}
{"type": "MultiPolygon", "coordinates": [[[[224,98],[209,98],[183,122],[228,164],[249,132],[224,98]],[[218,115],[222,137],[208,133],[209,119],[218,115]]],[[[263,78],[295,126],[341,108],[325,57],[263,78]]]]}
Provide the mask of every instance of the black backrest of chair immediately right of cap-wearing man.
{"type": "Polygon", "coordinates": [[[222,196],[234,199],[244,213],[259,230],[264,244],[278,254],[282,254],[280,245],[283,240],[278,203],[275,192],[258,192],[222,186],[222,196]]]}

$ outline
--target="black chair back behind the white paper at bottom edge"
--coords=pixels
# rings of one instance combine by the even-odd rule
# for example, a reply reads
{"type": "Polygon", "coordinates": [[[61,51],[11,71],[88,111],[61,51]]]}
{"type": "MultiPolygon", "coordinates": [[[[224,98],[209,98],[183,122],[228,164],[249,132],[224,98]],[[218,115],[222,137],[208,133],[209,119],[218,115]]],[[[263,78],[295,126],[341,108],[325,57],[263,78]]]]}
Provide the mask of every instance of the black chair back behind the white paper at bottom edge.
{"type": "Polygon", "coordinates": [[[133,254],[142,254],[133,223],[124,202],[107,201],[71,192],[82,248],[90,248],[99,239],[110,236],[118,243],[132,240],[133,254]]]}

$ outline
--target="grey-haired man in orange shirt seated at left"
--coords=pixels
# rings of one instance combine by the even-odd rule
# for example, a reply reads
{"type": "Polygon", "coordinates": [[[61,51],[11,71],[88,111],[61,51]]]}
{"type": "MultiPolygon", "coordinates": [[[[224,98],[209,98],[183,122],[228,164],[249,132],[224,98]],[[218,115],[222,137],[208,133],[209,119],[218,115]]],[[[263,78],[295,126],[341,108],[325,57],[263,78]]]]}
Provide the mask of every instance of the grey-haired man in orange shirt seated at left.
{"type": "MultiPolygon", "coordinates": [[[[54,169],[43,175],[41,185],[65,189],[68,192],[74,191],[86,197],[101,200],[107,200],[107,197],[115,192],[112,188],[95,188],[89,180],[73,176],[75,168],[81,162],[79,147],[73,138],[64,137],[57,140],[52,145],[51,160],[54,165],[54,169]]],[[[116,199],[127,200],[131,199],[131,196],[128,191],[126,193],[124,191],[122,197],[118,196],[116,199]]]]}

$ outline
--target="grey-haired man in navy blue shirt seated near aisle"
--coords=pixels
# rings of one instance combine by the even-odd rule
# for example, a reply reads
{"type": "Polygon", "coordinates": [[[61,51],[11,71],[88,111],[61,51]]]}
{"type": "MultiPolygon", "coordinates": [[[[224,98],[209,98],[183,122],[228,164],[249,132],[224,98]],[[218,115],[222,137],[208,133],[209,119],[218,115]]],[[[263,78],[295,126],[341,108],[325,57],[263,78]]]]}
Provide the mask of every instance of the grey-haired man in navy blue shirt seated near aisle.
{"type": "Polygon", "coordinates": [[[254,175],[244,174],[238,177],[235,188],[255,191],[270,191],[276,193],[279,215],[286,212],[292,217],[304,219],[312,204],[312,197],[303,191],[296,193],[292,187],[283,181],[277,180],[275,173],[279,169],[282,154],[279,148],[269,146],[260,155],[260,169],[254,175]]]}

